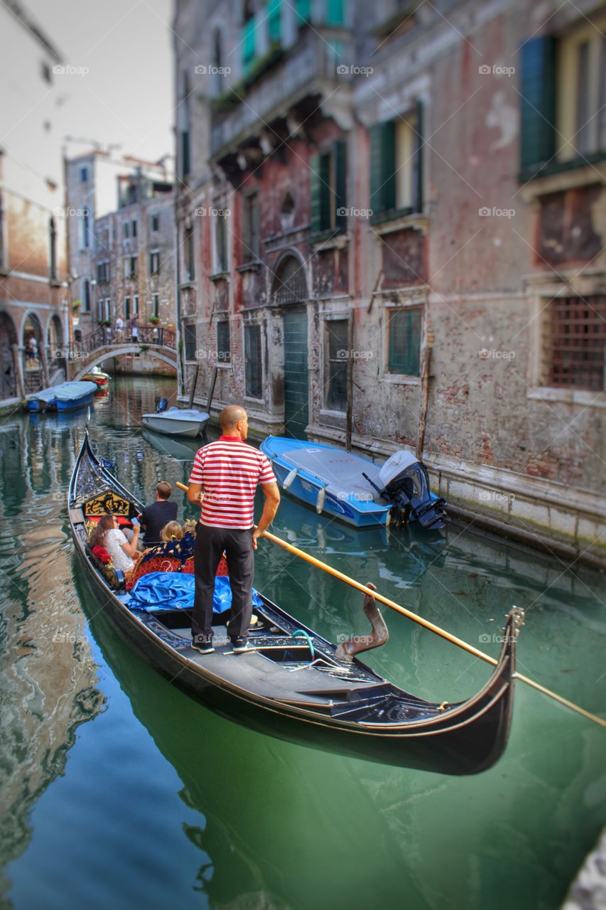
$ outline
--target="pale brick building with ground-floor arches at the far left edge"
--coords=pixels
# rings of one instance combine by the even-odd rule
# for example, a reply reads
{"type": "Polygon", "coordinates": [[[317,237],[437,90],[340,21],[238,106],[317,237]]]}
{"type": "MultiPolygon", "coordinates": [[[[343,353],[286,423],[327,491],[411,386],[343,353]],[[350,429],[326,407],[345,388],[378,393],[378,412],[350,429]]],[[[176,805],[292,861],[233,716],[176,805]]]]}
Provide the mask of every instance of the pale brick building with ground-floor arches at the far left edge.
{"type": "Polygon", "coordinates": [[[27,10],[0,7],[0,400],[48,384],[68,331],[61,136],[66,65],[27,10]]]}

